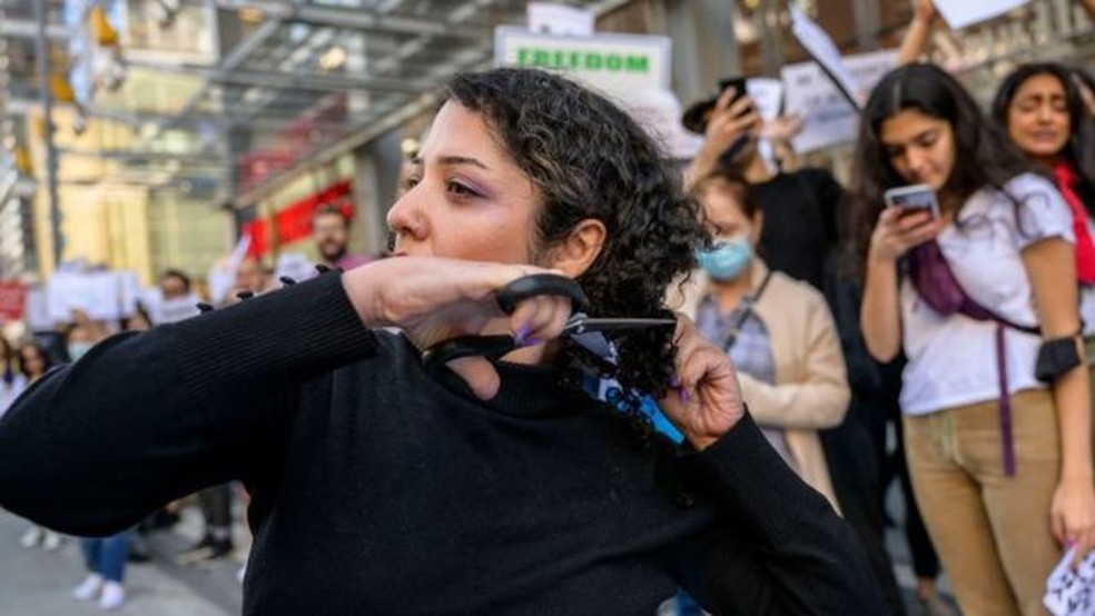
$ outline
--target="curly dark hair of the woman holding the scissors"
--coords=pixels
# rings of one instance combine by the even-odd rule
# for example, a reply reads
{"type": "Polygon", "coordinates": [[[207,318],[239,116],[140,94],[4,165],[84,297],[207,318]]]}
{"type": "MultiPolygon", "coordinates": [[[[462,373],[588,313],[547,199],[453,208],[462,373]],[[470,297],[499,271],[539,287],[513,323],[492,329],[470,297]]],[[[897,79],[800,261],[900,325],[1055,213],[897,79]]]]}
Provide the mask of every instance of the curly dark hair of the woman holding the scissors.
{"type": "MultiPolygon", "coordinates": [[[[708,238],[679,175],[634,120],[604,97],[541,70],[457,74],[444,99],[481,113],[537,188],[537,251],[565,240],[582,220],[604,225],[604,246],[578,278],[594,316],[665,315],[670,284],[693,268],[708,238]]],[[[612,376],[625,388],[664,395],[673,371],[672,330],[611,339],[620,357],[612,376]]],[[[568,345],[561,361],[585,359],[568,345]]]]}

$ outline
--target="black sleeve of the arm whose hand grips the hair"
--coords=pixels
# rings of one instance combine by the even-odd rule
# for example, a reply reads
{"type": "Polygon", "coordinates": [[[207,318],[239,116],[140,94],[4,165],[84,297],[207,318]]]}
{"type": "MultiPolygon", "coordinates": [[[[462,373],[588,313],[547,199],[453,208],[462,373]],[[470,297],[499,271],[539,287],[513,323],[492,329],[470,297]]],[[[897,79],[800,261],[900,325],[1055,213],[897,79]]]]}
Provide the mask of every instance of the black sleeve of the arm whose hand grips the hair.
{"type": "Polygon", "coordinates": [[[720,517],[673,555],[681,585],[708,612],[885,612],[851,527],[788,468],[748,415],[682,463],[720,517]]]}

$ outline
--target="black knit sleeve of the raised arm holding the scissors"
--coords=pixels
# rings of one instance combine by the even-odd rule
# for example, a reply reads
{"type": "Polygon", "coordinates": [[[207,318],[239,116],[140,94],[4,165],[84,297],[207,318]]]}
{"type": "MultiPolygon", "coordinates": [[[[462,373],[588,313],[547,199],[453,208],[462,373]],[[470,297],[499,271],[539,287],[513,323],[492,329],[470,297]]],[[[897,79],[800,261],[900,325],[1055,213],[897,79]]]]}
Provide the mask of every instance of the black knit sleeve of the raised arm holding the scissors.
{"type": "Polygon", "coordinates": [[[129,527],[240,476],[287,434],[303,382],[373,349],[337,274],[111,337],[0,420],[0,506],[76,535],[129,527]]]}

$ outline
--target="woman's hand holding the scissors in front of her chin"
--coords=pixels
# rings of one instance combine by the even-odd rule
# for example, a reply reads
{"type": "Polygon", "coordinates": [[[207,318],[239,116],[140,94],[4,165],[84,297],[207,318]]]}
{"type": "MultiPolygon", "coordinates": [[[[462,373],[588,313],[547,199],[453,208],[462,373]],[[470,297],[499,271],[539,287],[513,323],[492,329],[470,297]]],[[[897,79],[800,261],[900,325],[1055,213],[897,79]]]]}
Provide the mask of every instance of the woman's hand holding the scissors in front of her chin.
{"type": "MultiPolygon", "coordinates": [[[[506,315],[494,292],[523,276],[546,272],[524,265],[396,257],[346,271],[343,287],[366,327],[397,327],[420,349],[457,336],[500,334],[531,346],[559,336],[571,315],[570,300],[536,296],[506,315]]],[[[487,359],[465,357],[448,367],[481,399],[497,394],[499,375],[487,359]]]]}

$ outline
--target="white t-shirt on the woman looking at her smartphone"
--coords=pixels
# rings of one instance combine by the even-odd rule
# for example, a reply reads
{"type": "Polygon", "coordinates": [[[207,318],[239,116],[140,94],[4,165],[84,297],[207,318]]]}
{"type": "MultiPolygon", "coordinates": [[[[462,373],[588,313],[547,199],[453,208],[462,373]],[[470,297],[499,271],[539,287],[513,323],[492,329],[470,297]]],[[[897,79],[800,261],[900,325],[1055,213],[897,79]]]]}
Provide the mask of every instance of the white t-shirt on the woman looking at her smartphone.
{"type": "MultiPolygon", "coordinates": [[[[1039,176],[1017,176],[1006,188],[1022,203],[1018,216],[1007,196],[981,189],[961,209],[960,228],[951,223],[939,234],[939,247],[974,301],[1012,322],[1037,326],[1020,251],[1045,238],[1073,242],[1072,212],[1053,183],[1039,176]]],[[[996,321],[939,315],[908,279],[901,282],[900,302],[908,357],[901,387],[906,414],[925,415],[999,396],[996,321]]],[[[1039,336],[1005,328],[1009,393],[1045,387],[1034,376],[1040,346],[1039,336]]]]}

